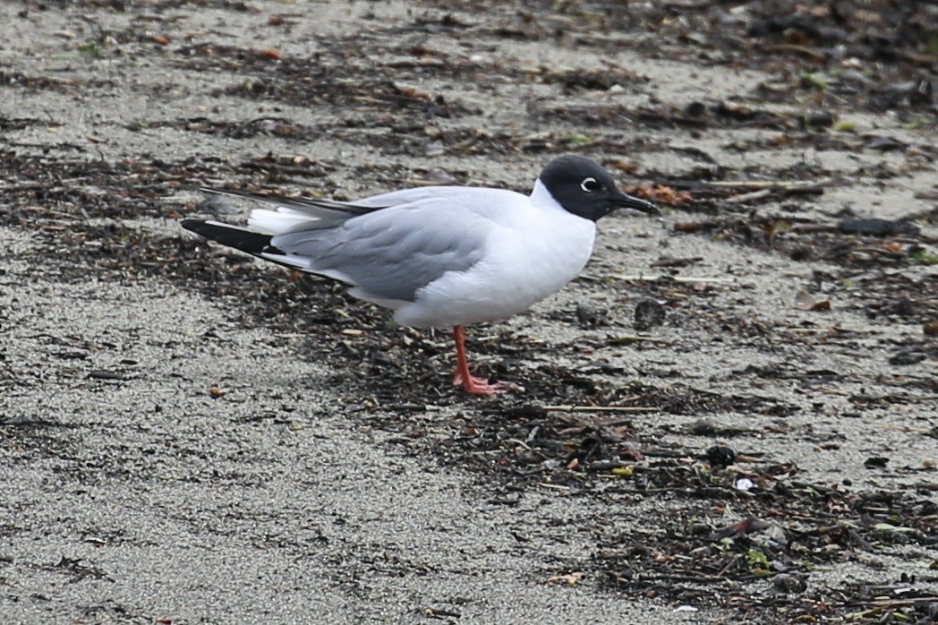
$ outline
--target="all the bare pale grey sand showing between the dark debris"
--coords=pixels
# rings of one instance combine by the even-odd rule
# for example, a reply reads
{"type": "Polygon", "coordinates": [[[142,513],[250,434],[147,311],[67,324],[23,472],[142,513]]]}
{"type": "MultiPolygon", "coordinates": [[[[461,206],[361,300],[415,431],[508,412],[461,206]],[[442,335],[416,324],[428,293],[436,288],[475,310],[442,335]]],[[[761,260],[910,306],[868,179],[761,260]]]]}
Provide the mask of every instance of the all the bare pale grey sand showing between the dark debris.
{"type": "MultiPolygon", "coordinates": [[[[486,21],[478,13],[394,2],[0,7],[4,150],[21,162],[126,166],[128,189],[143,184],[143,169],[133,170],[140,163],[174,176],[153,187],[163,206],[157,214],[136,214],[138,196],[132,193],[113,214],[83,213],[83,198],[99,192],[81,175],[71,179],[72,165],[56,183],[64,195],[4,207],[20,211],[0,228],[0,616],[6,622],[740,618],[706,602],[617,593],[590,575],[572,586],[547,583],[553,575],[582,570],[583,558],[598,552],[598,519],[603,531],[631,531],[653,526],[650,519],[682,504],[666,496],[582,496],[545,482],[520,488],[505,505],[504,484],[494,473],[479,473],[448,453],[416,453],[415,431],[429,440],[452,438],[487,406],[499,405],[499,399],[438,401],[439,392],[448,392],[445,357],[434,360],[439,370],[425,382],[430,389],[408,390],[409,397],[424,393],[423,409],[407,412],[406,426],[388,425],[400,414],[373,404],[358,410],[371,401],[368,389],[336,384],[342,373],[334,370],[336,360],[310,354],[306,333],[267,327],[248,315],[237,284],[210,296],[188,288],[191,276],[129,275],[88,260],[84,252],[101,245],[94,237],[68,238],[69,224],[81,220],[186,239],[179,215],[205,208],[179,185],[248,183],[257,179],[251,177],[256,170],[245,163],[268,155],[304,167],[325,163],[322,175],[285,182],[338,197],[385,191],[433,170],[461,183],[523,189],[547,160],[499,149],[459,153],[437,138],[467,129],[470,143],[472,133],[482,130],[554,142],[574,132],[602,134],[610,147],[591,153],[638,163],[628,174],[637,180],[697,171],[702,163],[688,152],[691,147],[732,172],[809,163],[819,178],[840,184],[797,206],[773,206],[806,219],[834,219],[845,207],[897,219],[935,206],[934,162],[915,150],[737,150],[732,146],[760,145],[773,132],[725,128],[692,136],[632,128],[629,120],[583,127],[553,115],[578,107],[683,107],[725,99],[770,80],[767,71],[699,67],[692,59],[618,49],[615,38],[628,38],[622,33],[608,35],[605,45],[582,47],[482,30],[478,38],[453,38],[432,28],[414,34],[414,24],[441,23],[445,15],[469,26],[486,21]],[[276,25],[275,15],[286,15],[289,25],[276,25]],[[327,98],[305,104],[236,97],[226,89],[250,91],[252,82],[265,80],[263,72],[244,71],[232,56],[198,52],[212,44],[306,59],[328,55],[337,41],[346,47],[359,42],[371,52],[348,51],[346,63],[356,75],[371,76],[375,59],[385,68],[400,60],[400,51],[388,44],[395,37],[433,51],[431,58],[490,64],[506,76],[543,67],[584,73],[612,67],[637,78],[625,89],[568,93],[550,81],[407,75],[401,81],[408,88],[445,94],[447,106],[461,109],[434,118],[419,139],[398,139],[394,123],[364,114],[353,120],[356,111],[327,98]],[[237,128],[268,117],[310,132],[297,138],[276,131],[237,136],[199,130],[205,120],[237,128]],[[896,177],[883,183],[882,171],[896,177]],[[72,258],[75,245],[83,252],[72,258]],[[224,394],[213,397],[212,387],[224,394]]],[[[506,20],[513,15],[499,14],[506,20]]],[[[273,62],[269,54],[261,57],[273,62]]],[[[776,111],[799,114],[796,106],[778,105],[776,111]]],[[[934,145],[933,130],[910,129],[889,114],[856,112],[852,119],[861,133],[934,145]]],[[[9,192],[32,179],[25,166],[0,174],[9,192]]],[[[831,278],[842,275],[840,267],[825,259],[799,262],[719,237],[675,236],[675,223],[698,217],[692,209],[672,209],[660,220],[603,221],[583,280],[533,312],[478,330],[476,340],[488,344],[509,336],[534,345],[508,373],[522,386],[544,367],[560,365],[590,370],[595,384],[607,389],[642,382],[677,393],[704,389],[770,398],[768,404],[785,408],[783,417],[731,408],[703,416],[743,431],[730,441],[734,449],[794,463],[800,479],[917,489],[933,502],[938,445],[925,435],[938,426],[933,339],[923,337],[920,321],[871,319],[864,309],[865,281],[889,269],[855,270],[846,284],[831,278]],[[682,278],[717,279],[703,282],[706,305],[664,289],[658,295],[671,297],[673,321],[652,330],[654,342],[583,348],[631,333],[633,294],[644,288],[634,276],[660,273],[654,265],[664,256],[699,259],[680,269],[682,278]],[[796,294],[806,289],[829,298],[832,310],[795,306],[796,294]],[[613,326],[569,323],[563,313],[582,302],[609,311],[613,326]],[[890,364],[909,344],[931,349],[930,356],[901,369],[890,364]],[[749,374],[772,368],[817,374],[812,383],[749,374]],[[857,409],[855,397],[866,395],[886,399],[857,409]],[[866,467],[874,456],[889,457],[891,470],[866,467]]],[[[921,227],[925,240],[938,236],[933,222],[921,227]]],[[[133,262],[160,262],[129,253],[133,262]]],[[[909,289],[933,286],[938,266],[915,266],[903,275],[911,275],[909,289]]],[[[270,276],[284,282],[277,270],[270,276]]],[[[933,300],[935,293],[919,296],[933,300]]],[[[301,303],[292,314],[314,306],[301,303]]],[[[386,332],[404,336],[400,329],[386,332]]],[[[381,336],[382,328],[366,328],[366,334],[381,336]]],[[[445,353],[445,338],[435,341],[445,353]]],[[[529,393],[533,403],[547,401],[537,390],[529,393]]],[[[637,440],[656,438],[662,446],[702,452],[713,441],[690,429],[701,418],[661,412],[635,417],[631,426],[641,434],[637,440]]],[[[724,514],[728,521],[740,515],[724,514]]],[[[653,532],[648,540],[654,544],[653,532]]],[[[923,578],[920,587],[938,591],[929,572],[938,561],[933,543],[897,545],[860,560],[821,567],[815,579],[838,585],[908,573],[923,578]]]]}

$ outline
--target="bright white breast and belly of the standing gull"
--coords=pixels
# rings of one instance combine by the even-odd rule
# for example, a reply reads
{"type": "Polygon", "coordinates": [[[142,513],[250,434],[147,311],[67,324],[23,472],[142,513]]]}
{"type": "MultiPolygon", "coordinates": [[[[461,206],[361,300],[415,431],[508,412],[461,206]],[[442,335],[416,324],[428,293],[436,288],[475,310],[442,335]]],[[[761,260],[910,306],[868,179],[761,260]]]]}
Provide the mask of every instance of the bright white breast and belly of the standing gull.
{"type": "Polygon", "coordinates": [[[404,326],[447,328],[504,319],[553,295],[586,265],[596,236],[593,221],[564,217],[562,227],[495,234],[481,261],[431,282],[394,318],[404,326]]]}

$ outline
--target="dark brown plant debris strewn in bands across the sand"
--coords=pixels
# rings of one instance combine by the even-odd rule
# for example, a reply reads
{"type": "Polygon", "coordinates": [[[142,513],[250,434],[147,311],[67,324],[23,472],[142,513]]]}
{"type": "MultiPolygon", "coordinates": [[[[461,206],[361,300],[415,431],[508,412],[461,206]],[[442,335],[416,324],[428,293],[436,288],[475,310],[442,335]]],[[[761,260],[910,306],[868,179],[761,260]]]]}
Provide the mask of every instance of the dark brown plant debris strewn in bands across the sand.
{"type": "MultiPolygon", "coordinates": [[[[154,10],[177,4],[163,3],[154,10]]],[[[452,3],[431,4],[448,8],[452,3]]],[[[499,77],[558,85],[567,95],[609,91],[616,85],[641,89],[646,81],[615,68],[571,73],[513,69],[468,56],[453,62],[401,38],[381,44],[387,58],[396,59],[387,62],[386,71],[375,71],[370,79],[362,80],[361,69],[343,63],[353,51],[340,38],[324,40],[325,57],[301,59],[275,48],[174,47],[174,37],[159,35],[165,39],[157,41],[159,46],[167,47],[180,66],[194,71],[228,69],[241,76],[239,84],[219,90],[219,98],[301,106],[320,102],[341,113],[334,121],[317,126],[294,123],[281,115],[247,123],[189,117],[144,119],[134,124],[138,129],[170,127],[234,139],[273,135],[295,142],[329,132],[352,144],[376,145],[386,155],[419,157],[427,154],[429,140],[447,154],[461,157],[562,152],[577,146],[601,154],[613,145],[634,153],[628,149],[637,145],[634,140],[609,128],[623,118],[651,130],[776,130],[782,133],[779,146],[794,143],[844,150],[866,146],[905,152],[913,147],[889,137],[840,136],[847,133],[837,130],[832,114],[789,116],[752,100],[791,103],[794,99],[799,106],[808,103],[815,110],[895,109],[909,124],[934,124],[935,21],[934,8],[928,3],[908,8],[886,2],[810,7],[756,1],[717,8],[710,3],[646,3],[629,5],[628,10],[609,6],[595,13],[577,3],[565,3],[552,12],[543,12],[540,3],[525,6],[514,15],[492,8],[502,18],[494,23],[501,25],[480,25],[471,16],[444,16],[416,19],[411,32],[446,29],[457,38],[474,38],[480,32],[493,38],[573,38],[599,49],[610,45],[608,38],[619,28],[654,32],[654,37],[615,39],[615,45],[674,59],[696,56],[703,64],[774,69],[776,78],[754,85],[745,103],[534,105],[535,119],[600,128],[596,136],[549,131],[531,137],[505,129],[460,127],[461,119],[477,114],[473,105],[431,87],[411,85],[419,84],[419,78],[431,70],[453,80],[499,77]],[[579,20],[598,28],[572,27],[566,35],[557,35],[558,24],[567,27],[579,20]],[[844,57],[850,62],[843,61],[844,57]],[[391,75],[394,78],[387,77],[391,75]],[[407,122],[414,114],[420,123],[407,122]],[[393,137],[371,133],[388,127],[393,137]]],[[[119,33],[110,35],[131,40],[119,33]]],[[[78,87],[70,81],[24,74],[0,76],[5,77],[3,89],[69,92],[78,87]]],[[[27,119],[13,122],[0,130],[32,123],[27,119]]],[[[921,151],[923,160],[935,156],[933,146],[915,149],[921,151]]],[[[83,153],[87,148],[76,146],[75,151],[83,153]]],[[[704,164],[713,160],[705,152],[689,156],[704,164]]],[[[627,377],[610,384],[611,376],[623,374],[614,365],[545,364],[542,357],[556,348],[526,341],[498,326],[482,327],[477,333],[484,336],[477,338],[473,349],[487,369],[480,373],[500,379],[517,376],[525,393],[498,404],[467,402],[441,383],[448,364],[446,337],[388,328],[385,314],[352,300],[332,283],[270,280],[269,270],[219,253],[188,236],[160,236],[121,224],[121,220],[140,217],[175,219],[165,198],[182,185],[229,177],[227,163],[205,158],[177,162],[68,159],[24,156],[12,149],[0,152],[0,163],[0,170],[12,178],[12,184],[2,190],[5,205],[11,209],[0,222],[37,232],[59,279],[83,280],[92,268],[114,280],[156,277],[211,297],[237,293],[242,299],[238,313],[242,323],[308,335],[305,356],[325,358],[337,372],[330,383],[346,389],[342,409],[401,434],[397,444],[415,458],[431,457],[443,465],[476,472],[480,483],[505,505],[513,500],[512,493],[550,487],[567,496],[596,497],[621,505],[654,500],[668,510],[630,528],[616,524],[614,516],[587,521],[596,549],[545,574],[547,583],[582,586],[593,581],[605,591],[659,598],[679,606],[719,605],[752,622],[828,618],[928,622],[936,617],[935,576],[922,575],[921,567],[915,568],[917,577],[902,572],[899,578],[879,583],[831,584],[816,581],[814,574],[817,567],[870,563],[880,556],[906,558],[912,571],[912,562],[933,558],[938,548],[938,506],[933,484],[925,481],[933,467],[931,471],[908,468],[921,471],[923,480],[917,487],[900,490],[855,490],[846,480],[840,484],[806,481],[793,463],[724,444],[736,433],[713,425],[727,412],[769,415],[782,420],[765,426],[760,435],[794,435],[783,425],[783,419],[799,409],[794,404],[757,393],[726,396],[680,379],[667,383],[651,377],[654,382],[640,382],[627,377]],[[102,224],[101,219],[113,222],[102,224]],[[58,255],[65,249],[69,250],[67,258],[58,255]],[[525,366],[526,362],[538,365],[525,366]],[[455,413],[447,413],[445,419],[427,416],[428,408],[441,406],[454,407],[455,413]],[[706,420],[677,436],[671,426],[656,425],[649,415],[706,420]]],[[[333,169],[327,162],[269,154],[237,163],[235,174],[246,187],[276,191],[285,184],[308,184],[309,178],[327,177],[333,169]]],[[[935,303],[929,294],[938,292],[938,282],[934,274],[909,269],[930,262],[933,247],[929,246],[934,241],[915,222],[933,223],[933,219],[874,220],[847,214],[815,221],[793,216],[783,203],[849,184],[847,179],[820,180],[824,176],[811,168],[763,170],[752,180],[732,179],[739,173],[725,168],[692,170],[683,176],[656,175],[628,165],[621,169],[648,180],[653,186],[640,191],[656,201],[678,206],[688,216],[706,214],[703,221],[676,224],[677,236],[718,238],[734,246],[785,255],[808,266],[821,260],[829,263],[825,270],[833,273],[818,276],[813,288],[798,294],[794,306],[823,315],[833,301],[837,308],[859,310],[870,318],[921,324],[923,336],[932,336],[928,328],[935,323],[935,303]],[[709,173],[700,175],[704,171],[709,173]]],[[[363,173],[371,180],[398,175],[380,166],[363,173]]],[[[881,174],[885,179],[900,175],[891,170],[881,174]]],[[[680,268],[673,263],[661,267],[669,265],[675,271],[680,268]]],[[[701,310],[707,309],[705,289],[667,277],[629,282],[629,289],[640,303],[651,302],[636,307],[634,329],[639,332],[694,323],[675,302],[696,301],[701,310]]],[[[807,334],[761,328],[732,314],[715,314],[723,324],[721,332],[737,341],[762,341],[767,333],[778,337],[777,343],[791,343],[778,349],[797,352],[808,344],[807,334]]],[[[612,339],[591,335],[594,344],[564,348],[588,351],[618,341],[641,349],[647,338],[623,335],[621,322],[601,307],[578,307],[552,317],[557,323],[579,324],[594,333],[612,328],[619,335],[612,339]]],[[[837,328],[824,332],[849,334],[837,328]]],[[[913,343],[901,346],[890,362],[903,366],[929,358],[938,358],[933,346],[913,343]]],[[[753,366],[740,373],[753,379],[797,380],[806,387],[816,387],[819,380],[837,374],[794,366],[753,366]]],[[[122,377],[109,381],[132,383],[122,377]]],[[[916,388],[932,396],[938,390],[933,380],[912,379],[892,394],[855,394],[850,399],[857,409],[901,404],[902,393],[916,388]]],[[[206,392],[220,398],[225,391],[213,387],[206,392]]],[[[913,404],[918,401],[905,397],[913,404]]],[[[38,432],[31,448],[41,447],[38,432]]],[[[897,463],[889,460],[870,456],[866,466],[870,471],[896,470],[892,467],[897,463]]],[[[938,564],[932,562],[930,570],[936,568],[938,564]]]]}

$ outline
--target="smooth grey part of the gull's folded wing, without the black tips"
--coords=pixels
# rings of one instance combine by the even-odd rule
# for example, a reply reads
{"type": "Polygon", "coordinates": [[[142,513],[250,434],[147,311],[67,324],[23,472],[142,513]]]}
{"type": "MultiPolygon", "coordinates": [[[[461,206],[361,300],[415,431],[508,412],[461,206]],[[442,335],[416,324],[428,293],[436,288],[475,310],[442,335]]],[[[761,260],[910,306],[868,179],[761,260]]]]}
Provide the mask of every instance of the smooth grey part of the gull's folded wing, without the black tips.
{"type": "Polygon", "coordinates": [[[492,222],[453,208],[441,209],[438,199],[392,206],[335,227],[274,236],[271,244],[305,261],[307,271],[355,285],[366,298],[414,301],[422,287],[482,258],[492,222]]]}

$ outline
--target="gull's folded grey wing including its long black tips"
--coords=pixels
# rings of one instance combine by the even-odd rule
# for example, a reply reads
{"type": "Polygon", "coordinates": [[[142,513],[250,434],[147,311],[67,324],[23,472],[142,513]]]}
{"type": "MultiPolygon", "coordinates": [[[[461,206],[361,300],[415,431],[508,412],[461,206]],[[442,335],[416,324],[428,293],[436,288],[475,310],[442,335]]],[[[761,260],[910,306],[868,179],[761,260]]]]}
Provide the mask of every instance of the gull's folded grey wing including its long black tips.
{"type": "Polygon", "coordinates": [[[394,301],[414,301],[421,288],[447,272],[475,265],[498,227],[492,206],[505,206],[505,194],[526,201],[511,191],[462,187],[394,191],[355,203],[234,194],[276,206],[251,211],[248,229],[193,220],[183,227],[345,282],[356,287],[357,297],[392,307],[394,301]]]}

